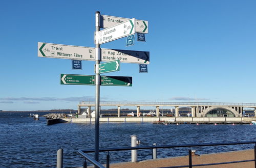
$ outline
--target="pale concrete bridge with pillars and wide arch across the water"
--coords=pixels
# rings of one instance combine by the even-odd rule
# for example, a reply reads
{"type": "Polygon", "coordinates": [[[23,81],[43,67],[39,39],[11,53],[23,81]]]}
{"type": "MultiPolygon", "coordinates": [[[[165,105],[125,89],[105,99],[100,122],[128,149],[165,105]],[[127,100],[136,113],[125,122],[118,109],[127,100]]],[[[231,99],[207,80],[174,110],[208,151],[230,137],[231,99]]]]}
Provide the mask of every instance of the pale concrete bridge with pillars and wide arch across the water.
{"type": "MultiPolygon", "coordinates": [[[[81,101],[78,104],[78,114],[80,114],[81,106],[87,106],[89,111],[91,106],[95,106],[95,102],[81,101]]],[[[254,108],[254,116],[256,116],[256,103],[219,103],[219,102],[110,102],[101,101],[100,106],[117,106],[117,114],[120,117],[121,106],[137,106],[137,116],[140,114],[141,106],[155,106],[156,114],[159,117],[160,106],[175,107],[175,117],[179,117],[179,107],[190,107],[192,117],[206,117],[209,111],[221,108],[230,111],[234,117],[243,116],[243,108],[254,108]]],[[[90,114],[89,114],[90,115],[90,114]]]]}

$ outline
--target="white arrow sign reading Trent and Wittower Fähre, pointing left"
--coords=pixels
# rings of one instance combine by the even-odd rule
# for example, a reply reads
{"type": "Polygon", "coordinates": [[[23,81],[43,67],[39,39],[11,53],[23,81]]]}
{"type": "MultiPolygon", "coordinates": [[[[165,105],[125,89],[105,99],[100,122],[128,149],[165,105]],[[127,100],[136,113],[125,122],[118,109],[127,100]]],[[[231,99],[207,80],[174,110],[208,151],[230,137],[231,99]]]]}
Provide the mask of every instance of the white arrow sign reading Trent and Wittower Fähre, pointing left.
{"type": "Polygon", "coordinates": [[[38,57],[95,61],[95,48],[38,42],[38,57]]]}

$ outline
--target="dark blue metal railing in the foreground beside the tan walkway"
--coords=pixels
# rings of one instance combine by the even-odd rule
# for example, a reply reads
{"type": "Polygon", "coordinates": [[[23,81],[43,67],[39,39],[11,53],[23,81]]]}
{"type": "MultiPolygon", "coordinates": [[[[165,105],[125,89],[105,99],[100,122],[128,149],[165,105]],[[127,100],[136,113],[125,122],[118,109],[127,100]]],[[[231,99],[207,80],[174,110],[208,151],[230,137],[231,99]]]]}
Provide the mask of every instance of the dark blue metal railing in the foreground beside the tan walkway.
{"type": "MultiPolygon", "coordinates": [[[[160,145],[160,146],[144,146],[144,147],[124,147],[124,148],[104,148],[100,149],[99,152],[108,152],[106,155],[106,167],[110,166],[110,155],[111,151],[127,151],[127,150],[142,150],[142,149],[160,149],[160,148],[185,148],[188,147],[188,163],[189,165],[169,166],[173,167],[193,167],[193,166],[205,166],[205,165],[218,165],[218,164],[229,164],[229,163],[240,163],[254,161],[254,167],[256,167],[256,141],[247,142],[236,142],[236,143],[210,143],[210,144],[184,144],[184,145],[160,145]],[[207,163],[207,164],[193,164],[191,147],[206,147],[206,146],[222,146],[222,145],[243,145],[243,144],[254,144],[254,159],[251,160],[240,160],[240,161],[229,161],[219,163],[207,163]]],[[[87,167],[87,160],[94,164],[96,167],[104,167],[102,164],[94,160],[91,156],[86,153],[94,152],[94,150],[78,150],[78,153],[84,157],[83,167],[87,167]]]]}

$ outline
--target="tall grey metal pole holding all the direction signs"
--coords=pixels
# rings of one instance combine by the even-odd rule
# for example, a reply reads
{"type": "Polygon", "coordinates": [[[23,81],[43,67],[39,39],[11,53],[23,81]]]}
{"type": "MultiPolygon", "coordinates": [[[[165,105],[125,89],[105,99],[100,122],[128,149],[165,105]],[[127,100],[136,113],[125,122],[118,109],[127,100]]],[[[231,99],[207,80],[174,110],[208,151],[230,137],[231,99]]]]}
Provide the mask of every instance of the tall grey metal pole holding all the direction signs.
{"type": "MultiPolygon", "coordinates": [[[[96,11],[95,15],[95,26],[96,26],[96,32],[95,35],[98,34],[100,30],[100,12],[96,11]]],[[[96,38],[95,38],[96,39],[96,38]]],[[[96,84],[96,100],[95,100],[95,144],[94,144],[94,159],[96,161],[99,161],[99,97],[100,97],[100,74],[99,74],[99,63],[101,58],[101,52],[100,52],[100,45],[98,40],[96,39],[95,43],[95,60],[96,60],[96,67],[95,67],[95,84],[96,84]]]]}

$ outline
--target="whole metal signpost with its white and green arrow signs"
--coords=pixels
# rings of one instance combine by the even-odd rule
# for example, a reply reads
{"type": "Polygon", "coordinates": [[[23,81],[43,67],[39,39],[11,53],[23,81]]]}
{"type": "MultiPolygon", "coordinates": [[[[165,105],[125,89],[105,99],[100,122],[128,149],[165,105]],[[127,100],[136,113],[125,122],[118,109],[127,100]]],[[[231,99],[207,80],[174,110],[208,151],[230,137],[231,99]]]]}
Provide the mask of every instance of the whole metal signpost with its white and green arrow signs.
{"type": "Polygon", "coordinates": [[[95,153],[94,158],[99,161],[99,100],[100,85],[102,86],[132,86],[130,76],[100,76],[120,70],[120,62],[149,64],[150,52],[119,49],[101,49],[100,44],[122,37],[134,35],[135,32],[148,33],[148,22],[95,14],[95,48],[51,44],[38,42],[38,57],[72,59],[73,69],[81,68],[79,60],[95,61],[95,75],[60,74],[61,85],[95,85],[95,153]],[[100,28],[107,28],[100,31],[100,28]],[[108,62],[100,64],[100,61],[108,62]],[[110,62],[111,61],[111,62],[110,62]]]}

